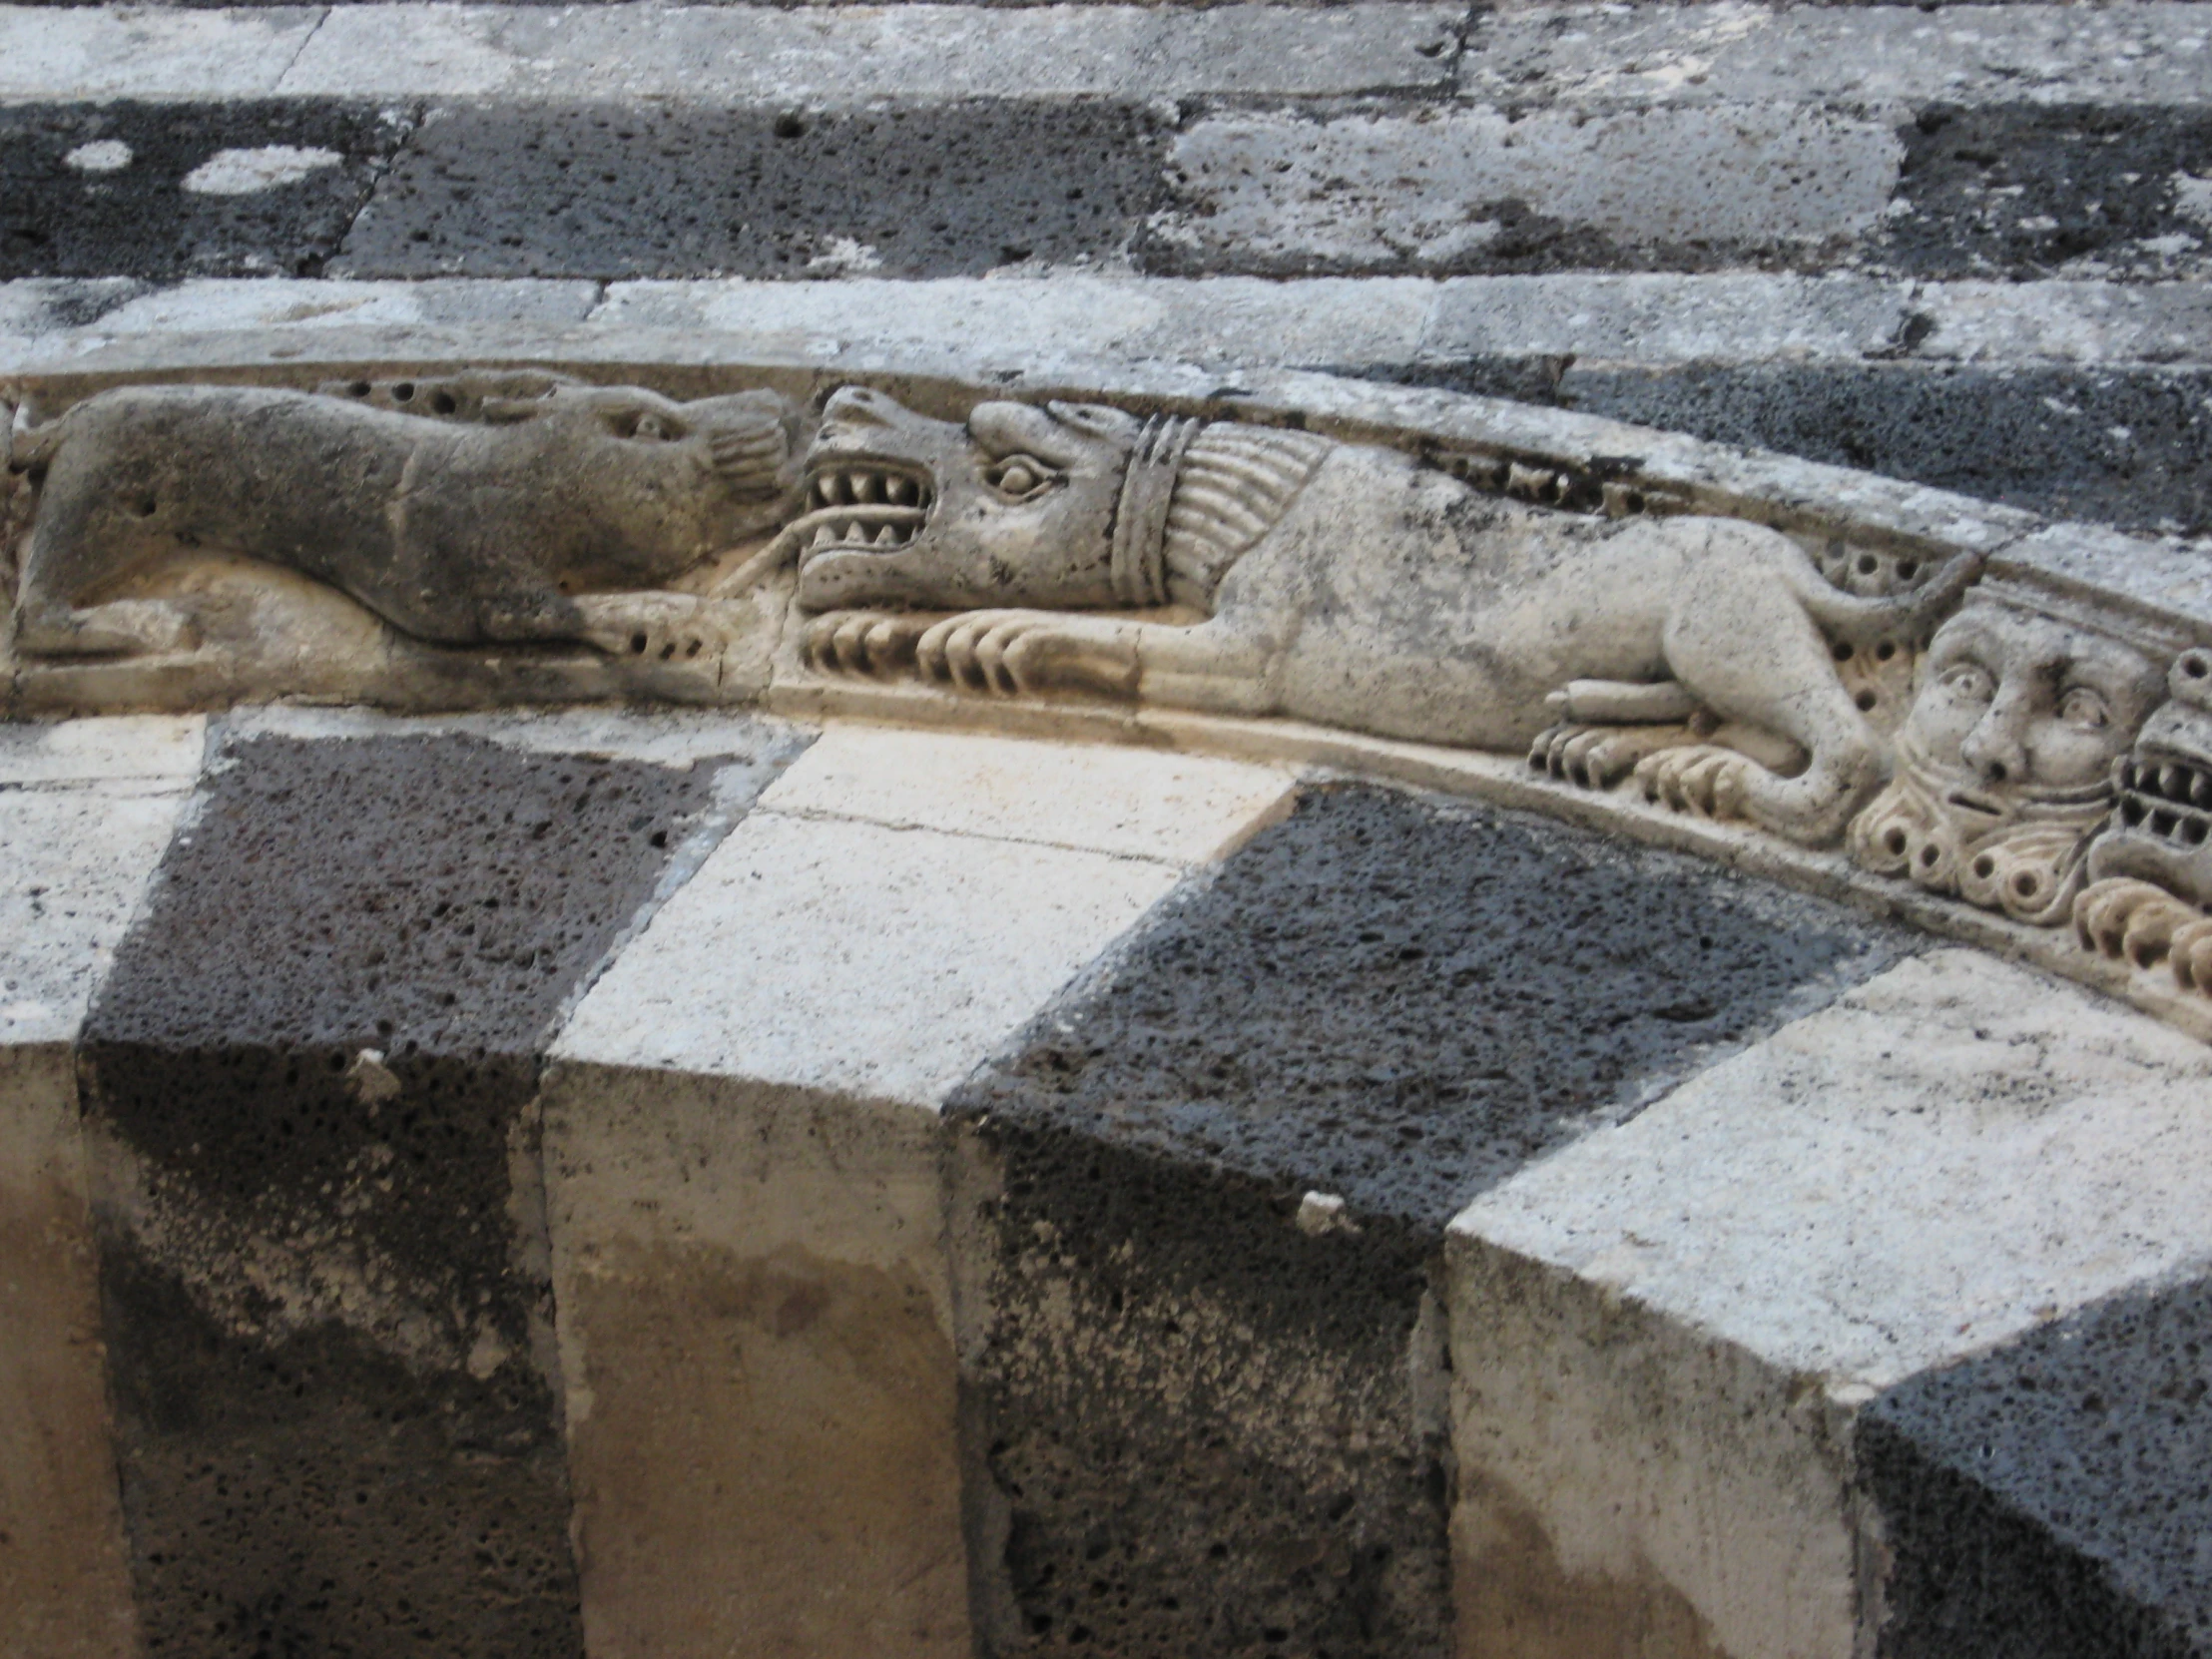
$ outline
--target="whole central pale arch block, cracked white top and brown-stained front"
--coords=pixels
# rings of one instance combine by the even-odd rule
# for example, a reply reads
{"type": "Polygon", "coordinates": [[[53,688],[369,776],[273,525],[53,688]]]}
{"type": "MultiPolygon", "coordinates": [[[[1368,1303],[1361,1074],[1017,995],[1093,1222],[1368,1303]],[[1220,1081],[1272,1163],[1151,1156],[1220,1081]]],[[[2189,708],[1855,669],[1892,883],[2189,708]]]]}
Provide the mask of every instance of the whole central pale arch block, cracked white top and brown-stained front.
{"type": "Polygon", "coordinates": [[[546,1192],[593,1655],[967,1655],[933,1108],[1265,768],[834,728],[584,998],[546,1192]]]}

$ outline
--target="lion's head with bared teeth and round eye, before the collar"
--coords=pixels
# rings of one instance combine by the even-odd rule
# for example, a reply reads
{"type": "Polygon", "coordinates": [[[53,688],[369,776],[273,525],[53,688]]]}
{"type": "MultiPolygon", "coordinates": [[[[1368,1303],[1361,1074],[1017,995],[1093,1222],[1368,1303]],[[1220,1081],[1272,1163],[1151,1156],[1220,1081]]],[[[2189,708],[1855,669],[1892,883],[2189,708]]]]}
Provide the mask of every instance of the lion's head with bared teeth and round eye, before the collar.
{"type": "Polygon", "coordinates": [[[805,460],[799,604],[1113,604],[1113,513],[1137,431],[1102,405],[980,403],[956,425],[845,387],[805,460]]]}

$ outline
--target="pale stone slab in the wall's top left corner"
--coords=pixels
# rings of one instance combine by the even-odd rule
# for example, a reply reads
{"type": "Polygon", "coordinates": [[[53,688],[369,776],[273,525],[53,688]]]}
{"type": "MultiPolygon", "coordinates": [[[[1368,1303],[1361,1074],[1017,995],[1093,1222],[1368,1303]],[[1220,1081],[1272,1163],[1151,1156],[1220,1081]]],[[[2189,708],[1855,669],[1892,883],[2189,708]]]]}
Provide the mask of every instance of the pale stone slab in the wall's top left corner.
{"type": "Polygon", "coordinates": [[[0,7],[0,100],[261,97],[323,7],[0,7]]]}

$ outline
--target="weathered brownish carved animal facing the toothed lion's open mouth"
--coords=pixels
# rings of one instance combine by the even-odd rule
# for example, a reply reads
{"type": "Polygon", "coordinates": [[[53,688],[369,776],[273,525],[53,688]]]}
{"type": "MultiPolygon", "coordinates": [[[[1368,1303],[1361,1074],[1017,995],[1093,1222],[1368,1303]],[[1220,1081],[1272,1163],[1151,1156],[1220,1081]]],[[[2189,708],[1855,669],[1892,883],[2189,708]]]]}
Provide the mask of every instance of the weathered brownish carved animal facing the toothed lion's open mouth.
{"type": "MultiPolygon", "coordinates": [[[[425,385],[425,407],[431,396],[425,385]]],[[[451,394],[438,405],[460,407],[451,394]]],[[[13,434],[11,462],[44,473],[18,648],[190,648],[184,606],[115,593],[195,553],[232,553],[327,582],[434,644],[644,653],[699,604],[655,588],[772,531],[794,476],[796,418],[768,392],[672,403],[549,378],[540,396],[471,394],[469,414],[117,387],[13,434]]]]}

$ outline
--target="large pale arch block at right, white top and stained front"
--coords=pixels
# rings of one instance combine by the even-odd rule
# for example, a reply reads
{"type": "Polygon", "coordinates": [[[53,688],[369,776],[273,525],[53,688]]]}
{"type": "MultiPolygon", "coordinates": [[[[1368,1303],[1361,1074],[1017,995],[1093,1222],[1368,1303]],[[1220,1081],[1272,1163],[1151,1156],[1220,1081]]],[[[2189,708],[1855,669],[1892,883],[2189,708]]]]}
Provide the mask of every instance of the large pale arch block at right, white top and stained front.
{"type": "Polygon", "coordinates": [[[1851,1655],[1856,1407],[2212,1259],[2208,1079],[2177,1031],[1936,951],[1469,1206],[1464,1650],[1641,1621],[1650,1652],[1851,1655]]]}

